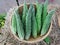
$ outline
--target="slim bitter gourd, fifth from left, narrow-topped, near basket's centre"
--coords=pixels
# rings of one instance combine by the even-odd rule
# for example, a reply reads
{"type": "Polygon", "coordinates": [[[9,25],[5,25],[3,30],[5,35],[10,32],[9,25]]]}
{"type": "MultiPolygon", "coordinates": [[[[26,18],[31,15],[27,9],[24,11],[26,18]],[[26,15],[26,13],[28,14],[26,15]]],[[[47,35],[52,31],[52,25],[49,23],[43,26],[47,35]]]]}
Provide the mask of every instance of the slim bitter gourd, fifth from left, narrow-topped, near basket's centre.
{"type": "Polygon", "coordinates": [[[35,17],[35,8],[32,9],[32,35],[34,38],[37,37],[37,22],[35,17]]]}

